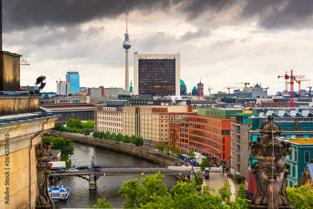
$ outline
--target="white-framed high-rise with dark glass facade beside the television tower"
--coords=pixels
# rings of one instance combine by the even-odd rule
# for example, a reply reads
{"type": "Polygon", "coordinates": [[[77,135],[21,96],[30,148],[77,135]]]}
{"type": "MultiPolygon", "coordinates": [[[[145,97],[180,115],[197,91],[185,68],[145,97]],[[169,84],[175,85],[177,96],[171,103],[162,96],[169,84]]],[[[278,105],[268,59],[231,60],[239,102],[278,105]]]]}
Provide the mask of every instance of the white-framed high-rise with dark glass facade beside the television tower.
{"type": "Polygon", "coordinates": [[[180,54],[134,54],[134,94],[180,95],[180,54]]]}

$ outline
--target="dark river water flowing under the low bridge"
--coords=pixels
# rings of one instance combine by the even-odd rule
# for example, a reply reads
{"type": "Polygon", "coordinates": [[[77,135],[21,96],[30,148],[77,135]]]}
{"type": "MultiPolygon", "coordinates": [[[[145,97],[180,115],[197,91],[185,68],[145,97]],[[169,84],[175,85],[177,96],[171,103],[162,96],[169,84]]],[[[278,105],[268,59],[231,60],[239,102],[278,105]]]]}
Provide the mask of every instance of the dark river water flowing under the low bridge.
{"type": "MultiPolygon", "coordinates": [[[[90,145],[74,142],[74,155],[71,156],[72,165],[88,165],[91,166],[91,156],[95,156],[95,165],[113,165],[121,164],[140,165],[151,164],[152,162],[144,159],[123,154],[111,150],[102,149],[90,145]]],[[[124,181],[139,179],[141,182],[142,176],[101,176],[97,180],[96,190],[89,190],[88,181],[74,176],[64,176],[56,180],[57,184],[70,187],[69,198],[66,201],[59,201],[56,205],[59,208],[85,208],[85,206],[93,206],[98,204],[98,199],[105,197],[105,202],[110,202],[115,208],[122,208],[126,201],[124,197],[118,193],[124,181]]],[[[177,183],[175,176],[165,176],[162,178],[163,183],[166,183],[167,188],[172,188],[177,183]]]]}

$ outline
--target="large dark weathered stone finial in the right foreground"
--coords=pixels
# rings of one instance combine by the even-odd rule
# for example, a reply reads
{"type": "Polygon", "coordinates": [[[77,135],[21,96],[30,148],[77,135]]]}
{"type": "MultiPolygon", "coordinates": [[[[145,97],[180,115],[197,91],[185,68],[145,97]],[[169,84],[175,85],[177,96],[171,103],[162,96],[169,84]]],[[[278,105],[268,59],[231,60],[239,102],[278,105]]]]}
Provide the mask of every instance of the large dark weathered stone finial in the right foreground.
{"type": "Polygon", "coordinates": [[[255,177],[255,194],[248,200],[249,209],[295,209],[286,194],[286,177],[290,174],[289,165],[280,162],[290,155],[291,143],[280,142],[276,136],[282,133],[280,126],[269,115],[259,132],[265,138],[261,142],[249,142],[251,155],[260,160],[251,165],[255,177]]]}

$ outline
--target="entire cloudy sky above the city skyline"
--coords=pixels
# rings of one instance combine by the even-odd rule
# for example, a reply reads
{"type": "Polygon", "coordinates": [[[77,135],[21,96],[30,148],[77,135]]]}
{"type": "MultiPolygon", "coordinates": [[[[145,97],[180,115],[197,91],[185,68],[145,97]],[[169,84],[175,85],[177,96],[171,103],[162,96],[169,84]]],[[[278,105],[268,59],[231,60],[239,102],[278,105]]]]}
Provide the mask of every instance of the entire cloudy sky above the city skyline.
{"type": "MultiPolygon", "coordinates": [[[[124,86],[124,0],[3,0],[3,50],[23,55],[21,85],[45,75],[45,91],[75,68],[80,86],[124,86]]],[[[312,79],[311,0],[128,0],[129,56],[181,54],[187,91],[204,94],[236,82],[285,89],[278,75],[293,69],[312,79]]],[[[301,89],[313,86],[302,82],[301,89]]],[[[298,84],[295,85],[298,90],[298,84]]]]}

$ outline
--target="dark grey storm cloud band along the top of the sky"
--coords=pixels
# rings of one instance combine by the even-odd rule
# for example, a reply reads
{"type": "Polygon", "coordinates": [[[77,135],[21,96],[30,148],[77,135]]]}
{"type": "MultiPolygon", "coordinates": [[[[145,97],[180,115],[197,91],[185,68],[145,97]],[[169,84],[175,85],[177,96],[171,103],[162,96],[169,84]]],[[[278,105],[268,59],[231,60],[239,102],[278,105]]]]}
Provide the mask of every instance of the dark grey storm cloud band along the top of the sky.
{"type": "MultiPolygon", "coordinates": [[[[227,12],[228,6],[242,7],[238,21],[259,15],[264,28],[307,27],[312,25],[311,0],[130,0],[128,8],[143,15],[156,11],[186,14],[187,21],[203,13],[227,12]],[[225,10],[226,9],[226,10],[225,10]]],[[[67,26],[101,18],[116,18],[125,13],[125,0],[3,0],[3,30],[25,30],[41,26],[46,20],[54,26],[67,26]]]]}

